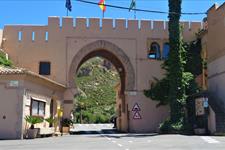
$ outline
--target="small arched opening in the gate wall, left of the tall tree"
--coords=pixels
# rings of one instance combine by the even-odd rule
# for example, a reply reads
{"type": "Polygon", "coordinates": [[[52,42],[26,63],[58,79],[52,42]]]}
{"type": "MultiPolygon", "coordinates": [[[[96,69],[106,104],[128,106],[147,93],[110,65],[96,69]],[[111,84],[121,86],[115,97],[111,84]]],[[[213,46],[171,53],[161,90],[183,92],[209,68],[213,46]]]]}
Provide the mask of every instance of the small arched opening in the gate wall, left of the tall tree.
{"type": "Polygon", "coordinates": [[[148,58],[150,59],[160,59],[160,46],[158,43],[153,42],[151,44],[150,50],[148,52],[148,58]]]}

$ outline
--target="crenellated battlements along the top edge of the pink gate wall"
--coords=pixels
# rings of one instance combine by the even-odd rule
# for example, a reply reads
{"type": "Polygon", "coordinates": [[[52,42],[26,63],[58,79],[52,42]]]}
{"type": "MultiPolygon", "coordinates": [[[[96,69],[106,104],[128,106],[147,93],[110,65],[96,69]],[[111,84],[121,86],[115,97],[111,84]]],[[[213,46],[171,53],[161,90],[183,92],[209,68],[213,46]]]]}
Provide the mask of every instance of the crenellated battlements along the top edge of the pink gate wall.
{"type": "MultiPolygon", "coordinates": [[[[202,28],[201,22],[181,22],[183,24],[184,33],[197,32],[202,28]]],[[[127,19],[100,19],[100,18],[71,18],[71,17],[49,17],[48,25],[6,25],[4,28],[4,36],[7,34],[16,35],[14,38],[22,40],[48,41],[48,35],[56,35],[56,33],[65,33],[72,35],[81,32],[119,32],[137,35],[138,33],[166,33],[168,34],[167,21],[154,20],[127,20],[127,19]]]]}

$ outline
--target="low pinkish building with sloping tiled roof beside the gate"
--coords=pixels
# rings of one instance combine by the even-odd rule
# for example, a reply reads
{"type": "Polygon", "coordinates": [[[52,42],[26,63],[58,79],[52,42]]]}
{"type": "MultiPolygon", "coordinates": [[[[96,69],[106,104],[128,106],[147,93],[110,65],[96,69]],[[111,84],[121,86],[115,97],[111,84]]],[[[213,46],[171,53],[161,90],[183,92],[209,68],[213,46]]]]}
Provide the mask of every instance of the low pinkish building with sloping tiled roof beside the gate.
{"type": "Polygon", "coordinates": [[[41,134],[53,134],[59,127],[57,112],[65,90],[65,86],[25,69],[0,67],[0,139],[26,137],[30,124],[24,118],[30,115],[54,117],[54,126],[46,121],[35,126],[41,134]]]}

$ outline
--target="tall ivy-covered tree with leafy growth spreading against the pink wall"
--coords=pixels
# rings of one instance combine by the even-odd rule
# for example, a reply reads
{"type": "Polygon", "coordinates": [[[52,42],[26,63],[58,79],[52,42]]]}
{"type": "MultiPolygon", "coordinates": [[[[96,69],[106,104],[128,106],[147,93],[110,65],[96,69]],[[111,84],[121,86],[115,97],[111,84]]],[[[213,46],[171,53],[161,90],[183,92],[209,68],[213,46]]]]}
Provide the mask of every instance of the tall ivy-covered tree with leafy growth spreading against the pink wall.
{"type": "Polygon", "coordinates": [[[170,106],[170,118],[160,125],[163,132],[183,132],[187,129],[186,100],[188,95],[198,90],[192,72],[188,72],[193,69],[187,67],[186,63],[188,60],[188,65],[192,64],[191,59],[194,57],[186,52],[193,46],[183,43],[180,26],[181,3],[182,0],[169,0],[170,52],[168,59],[162,65],[166,70],[165,77],[161,80],[156,79],[151,89],[144,92],[147,97],[159,101],[157,106],[170,106]]]}

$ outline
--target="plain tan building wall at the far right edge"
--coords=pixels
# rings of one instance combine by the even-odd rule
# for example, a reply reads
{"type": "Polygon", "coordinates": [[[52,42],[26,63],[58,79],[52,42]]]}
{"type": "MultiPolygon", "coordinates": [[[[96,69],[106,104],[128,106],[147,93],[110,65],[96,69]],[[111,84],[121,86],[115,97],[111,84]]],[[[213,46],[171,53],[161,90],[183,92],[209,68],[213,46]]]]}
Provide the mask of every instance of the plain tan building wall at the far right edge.
{"type": "Polygon", "coordinates": [[[207,30],[202,37],[204,57],[207,58],[207,88],[211,95],[213,132],[225,132],[225,3],[213,5],[207,13],[207,30]]]}

